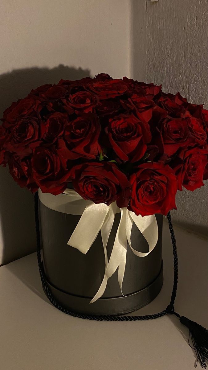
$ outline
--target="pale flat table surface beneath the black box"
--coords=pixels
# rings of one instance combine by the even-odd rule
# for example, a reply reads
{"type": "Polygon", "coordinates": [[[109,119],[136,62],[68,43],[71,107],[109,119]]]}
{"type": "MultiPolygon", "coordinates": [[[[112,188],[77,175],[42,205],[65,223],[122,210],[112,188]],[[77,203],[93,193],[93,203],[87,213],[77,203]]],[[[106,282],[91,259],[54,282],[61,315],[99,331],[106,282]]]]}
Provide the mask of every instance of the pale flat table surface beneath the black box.
{"type": "MultiPolygon", "coordinates": [[[[175,310],[208,327],[208,244],[175,228],[179,282],[175,310]]],[[[170,302],[173,264],[168,225],[163,232],[164,284],[136,314],[170,302]]],[[[0,267],[1,370],[191,370],[195,352],[175,316],[146,322],[96,322],[68,316],[47,300],[36,253],[0,267]]],[[[200,368],[200,365],[198,365],[200,368]]]]}

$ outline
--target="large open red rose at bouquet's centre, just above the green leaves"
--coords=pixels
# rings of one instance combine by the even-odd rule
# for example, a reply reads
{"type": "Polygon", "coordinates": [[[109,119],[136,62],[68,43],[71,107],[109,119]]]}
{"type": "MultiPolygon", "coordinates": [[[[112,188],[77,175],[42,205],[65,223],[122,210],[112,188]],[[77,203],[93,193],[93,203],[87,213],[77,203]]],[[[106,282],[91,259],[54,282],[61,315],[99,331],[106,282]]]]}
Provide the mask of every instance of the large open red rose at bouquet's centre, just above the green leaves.
{"type": "Polygon", "coordinates": [[[114,152],[123,161],[138,161],[147,149],[146,144],[151,141],[148,123],[132,113],[111,118],[105,131],[114,152]]]}

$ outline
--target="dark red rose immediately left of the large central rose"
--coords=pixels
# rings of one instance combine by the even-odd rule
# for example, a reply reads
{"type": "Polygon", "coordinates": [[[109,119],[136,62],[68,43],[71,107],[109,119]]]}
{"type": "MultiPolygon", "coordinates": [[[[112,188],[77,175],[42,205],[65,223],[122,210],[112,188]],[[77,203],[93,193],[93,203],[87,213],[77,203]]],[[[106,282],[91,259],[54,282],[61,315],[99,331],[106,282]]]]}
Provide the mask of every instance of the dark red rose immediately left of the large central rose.
{"type": "Polygon", "coordinates": [[[64,132],[64,140],[58,140],[58,150],[67,159],[95,159],[100,151],[98,137],[100,123],[97,115],[86,113],[76,120],[68,122],[64,132]]]}

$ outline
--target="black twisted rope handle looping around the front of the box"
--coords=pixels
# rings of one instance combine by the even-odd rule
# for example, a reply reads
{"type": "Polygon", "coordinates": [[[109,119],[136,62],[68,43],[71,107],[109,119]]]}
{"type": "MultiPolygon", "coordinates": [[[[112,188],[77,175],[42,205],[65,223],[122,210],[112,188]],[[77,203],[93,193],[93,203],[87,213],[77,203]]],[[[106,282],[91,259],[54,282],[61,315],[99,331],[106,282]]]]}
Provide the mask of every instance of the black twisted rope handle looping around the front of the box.
{"type": "Polygon", "coordinates": [[[38,260],[38,268],[40,272],[41,282],[43,284],[43,288],[46,292],[48,299],[50,300],[52,305],[54,305],[58,310],[70,316],[79,317],[80,319],[97,320],[97,321],[153,320],[153,319],[158,319],[158,317],[165,316],[168,313],[171,313],[171,314],[174,313],[176,316],[179,316],[176,312],[174,312],[174,302],[175,302],[175,296],[177,292],[177,283],[178,283],[178,255],[177,255],[176,240],[175,240],[170,212],[168,212],[167,219],[168,219],[168,225],[170,229],[172,248],[173,248],[174,283],[173,283],[171,301],[170,301],[170,304],[167,306],[167,308],[161,312],[158,312],[152,315],[145,315],[145,316],[84,315],[84,314],[70,311],[66,307],[60,305],[60,303],[57,302],[57,300],[54,298],[53,294],[50,291],[50,287],[48,286],[46,275],[43,269],[43,262],[41,261],[40,229],[39,229],[39,218],[38,218],[38,193],[37,192],[35,194],[34,199],[35,199],[35,221],[36,221],[36,238],[37,238],[37,260],[38,260]]]}

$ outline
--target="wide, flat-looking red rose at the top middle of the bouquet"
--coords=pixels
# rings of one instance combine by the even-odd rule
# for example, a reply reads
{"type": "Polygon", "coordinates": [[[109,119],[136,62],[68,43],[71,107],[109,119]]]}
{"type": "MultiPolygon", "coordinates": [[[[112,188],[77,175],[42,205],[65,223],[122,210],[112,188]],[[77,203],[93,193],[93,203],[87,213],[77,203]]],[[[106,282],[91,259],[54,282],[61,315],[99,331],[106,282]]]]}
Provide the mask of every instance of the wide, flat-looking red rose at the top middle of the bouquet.
{"type": "Polygon", "coordinates": [[[124,94],[128,87],[122,80],[101,80],[87,85],[88,90],[98,95],[100,100],[115,98],[124,94]]]}

